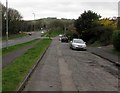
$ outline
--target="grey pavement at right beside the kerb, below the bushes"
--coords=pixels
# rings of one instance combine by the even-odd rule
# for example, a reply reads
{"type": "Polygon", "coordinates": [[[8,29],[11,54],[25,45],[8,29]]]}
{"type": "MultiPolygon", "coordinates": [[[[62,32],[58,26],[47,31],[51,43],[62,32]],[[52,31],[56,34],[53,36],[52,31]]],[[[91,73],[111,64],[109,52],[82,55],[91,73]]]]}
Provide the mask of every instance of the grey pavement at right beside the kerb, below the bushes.
{"type": "Polygon", "coordinates": [[[88,51],[96,54],[104,59],[107,59],[113,63],[120,65],[120,56],[114,55],[110,52],[112,46],[109,47],[88,47],[88,51]]]}

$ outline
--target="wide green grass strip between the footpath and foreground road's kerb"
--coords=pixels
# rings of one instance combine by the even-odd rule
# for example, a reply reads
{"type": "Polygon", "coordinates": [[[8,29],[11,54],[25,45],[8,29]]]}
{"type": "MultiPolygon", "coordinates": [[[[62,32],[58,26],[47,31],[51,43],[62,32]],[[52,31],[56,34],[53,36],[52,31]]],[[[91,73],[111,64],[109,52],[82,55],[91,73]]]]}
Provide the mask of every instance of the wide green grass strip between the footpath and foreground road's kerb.
{"type": "Polygon", "coordinates": [[[3,69],[3,91],[14,91],[18,88],[40,55],[50,45],[51,40],[45,39],[29,49],[24,55],[3,69]]]}

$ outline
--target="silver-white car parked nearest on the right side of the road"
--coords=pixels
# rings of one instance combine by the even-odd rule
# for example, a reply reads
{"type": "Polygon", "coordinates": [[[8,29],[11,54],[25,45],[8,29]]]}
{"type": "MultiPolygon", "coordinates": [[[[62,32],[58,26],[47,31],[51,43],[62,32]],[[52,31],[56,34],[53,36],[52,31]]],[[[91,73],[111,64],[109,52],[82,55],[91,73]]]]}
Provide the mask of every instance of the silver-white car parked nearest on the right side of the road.
{"type": "Polygon", "coordinates": [[[86,45],[86,42],[84,42],[82,39],[73,39],[70,42],[70,48],[87,50],[87,45],[86,45]]]}

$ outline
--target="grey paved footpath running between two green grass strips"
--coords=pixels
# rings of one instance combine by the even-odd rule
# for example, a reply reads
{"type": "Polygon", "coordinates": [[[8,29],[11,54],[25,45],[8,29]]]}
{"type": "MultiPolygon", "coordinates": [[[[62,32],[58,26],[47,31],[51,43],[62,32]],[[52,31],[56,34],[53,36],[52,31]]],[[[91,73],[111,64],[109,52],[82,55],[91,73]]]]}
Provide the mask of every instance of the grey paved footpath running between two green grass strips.
{"type": "Polygon", "coordinates": [[[2,56],[2,68],[7,66],[8,64],[10,64],[17,57],[24,54],[28,49],[32,48],[35,44],[37,44],[37,42],[39,42],[39,41],[36,41],[31,45],[25,46],[23,48],[20,48],[20,49],[18,49],[16,51],[13,51],[13,52],[7,54],[7,55],[2,56]]]}

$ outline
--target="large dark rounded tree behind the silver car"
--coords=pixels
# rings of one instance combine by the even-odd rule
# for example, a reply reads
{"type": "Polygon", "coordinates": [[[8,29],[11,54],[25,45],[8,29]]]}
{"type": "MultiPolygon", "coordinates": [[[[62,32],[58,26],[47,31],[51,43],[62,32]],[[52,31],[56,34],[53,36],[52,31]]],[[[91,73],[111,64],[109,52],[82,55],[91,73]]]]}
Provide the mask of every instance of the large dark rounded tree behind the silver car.
{"type": "Polygon", "coordinates": [[[92,11],[84,11],[83,14],[75,21],[76,31],[80,37],[85,41],[92,38],[92,29],[96,26],[100,26],[98,20],[101,16],[92,11]]]}

